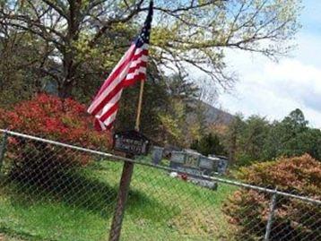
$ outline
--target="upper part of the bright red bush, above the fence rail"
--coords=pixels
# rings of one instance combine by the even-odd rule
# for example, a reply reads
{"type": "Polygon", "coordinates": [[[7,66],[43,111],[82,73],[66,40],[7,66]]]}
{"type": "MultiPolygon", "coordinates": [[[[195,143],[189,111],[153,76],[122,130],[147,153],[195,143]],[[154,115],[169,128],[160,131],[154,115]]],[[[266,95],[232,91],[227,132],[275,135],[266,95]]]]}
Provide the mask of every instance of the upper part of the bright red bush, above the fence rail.
{"type": "Polygon", "coordinates": [[[84,105],[46,94],[22,101],[11,110],[0,109],[1,128],[92,149],[108,149],[111,134],[96,132],[92,122],[84,105]]]}

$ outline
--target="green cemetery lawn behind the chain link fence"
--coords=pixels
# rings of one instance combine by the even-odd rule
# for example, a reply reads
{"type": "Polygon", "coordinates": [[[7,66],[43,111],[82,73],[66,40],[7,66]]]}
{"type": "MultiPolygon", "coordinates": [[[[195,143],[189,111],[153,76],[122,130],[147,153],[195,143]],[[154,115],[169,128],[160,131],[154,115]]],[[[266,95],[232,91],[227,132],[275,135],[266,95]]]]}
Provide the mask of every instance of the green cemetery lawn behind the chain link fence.
{"type": "MultiPolygon", "coordinates": [[[[59,176],[65,185],[48,189],[7,183],[0,189],[0,240],[108,240],[121,168],[102,161],[59,176]]],[[[135,165],[122,240],[230,240],[221,205],[234,190],[211,191],[135,165]]]]}

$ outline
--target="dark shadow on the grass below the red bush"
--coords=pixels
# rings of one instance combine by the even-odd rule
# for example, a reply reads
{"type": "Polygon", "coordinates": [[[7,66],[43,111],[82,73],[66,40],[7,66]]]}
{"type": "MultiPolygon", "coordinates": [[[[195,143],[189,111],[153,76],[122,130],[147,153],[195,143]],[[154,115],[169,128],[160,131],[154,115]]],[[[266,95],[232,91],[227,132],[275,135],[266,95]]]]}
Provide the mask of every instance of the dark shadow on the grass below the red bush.
{"type": "MultiPolygon", "coordinates": [[[[120,173],[109,173],[119,175],[120,173]]],[[[114,176],[115,177],[115,176],[114,176]]],[[[108,176],[106,176],[108,179],[108,176]]],[[[4,194],[10,197],[13,205],[30,207],[44,203],[62,203],[72,210],[81,209],[99,214],[103,219],[112,217],[117,202],[117,185],[109,185],[108,180],[95,176],[94,168],[74,168],[66,171],[50,171],[46,176],[35,177],[35,174],[8,175],[5,181],[4,194]]],[[[147,194],[131,189],[128,194],[126,214],[135,219],[167,221],[173,214],[168,207],[147,194]],[[166,215],[160,216],[160,213],[166,215]],[[170,217],[169,217],[170,216],[170,217]]]]}

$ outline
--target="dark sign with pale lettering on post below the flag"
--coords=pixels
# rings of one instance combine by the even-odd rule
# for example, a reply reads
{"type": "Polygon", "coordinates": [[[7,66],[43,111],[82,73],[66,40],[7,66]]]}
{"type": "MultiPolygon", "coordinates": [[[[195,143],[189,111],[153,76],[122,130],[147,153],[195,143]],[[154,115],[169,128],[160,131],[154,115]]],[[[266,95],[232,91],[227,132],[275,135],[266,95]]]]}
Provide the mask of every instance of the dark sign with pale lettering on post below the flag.
{"type": "Polygon", "coordinates": [[[137,131],[126,131],[114,134],[114,150],[134,155],[146,155],[150,140],[137,131]]]}

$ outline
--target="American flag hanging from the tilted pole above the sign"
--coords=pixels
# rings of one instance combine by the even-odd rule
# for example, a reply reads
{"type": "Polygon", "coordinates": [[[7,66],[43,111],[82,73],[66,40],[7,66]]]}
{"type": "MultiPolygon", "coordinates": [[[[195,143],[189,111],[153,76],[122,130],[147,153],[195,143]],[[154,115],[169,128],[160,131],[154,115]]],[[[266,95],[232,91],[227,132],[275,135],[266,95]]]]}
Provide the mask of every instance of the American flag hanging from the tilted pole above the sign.
{"type": "Polygon", "coordinates": [[[145,80],[151,25],[152,1],[141,33],[102,84],[88,108],[88,113],[95,116],[97,130],[107,130],[115,122],[123,89],[134,82],[145,80]]]}

